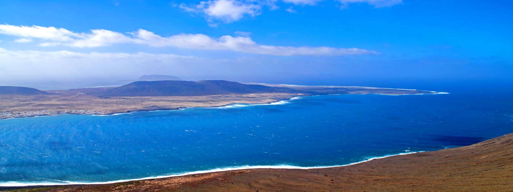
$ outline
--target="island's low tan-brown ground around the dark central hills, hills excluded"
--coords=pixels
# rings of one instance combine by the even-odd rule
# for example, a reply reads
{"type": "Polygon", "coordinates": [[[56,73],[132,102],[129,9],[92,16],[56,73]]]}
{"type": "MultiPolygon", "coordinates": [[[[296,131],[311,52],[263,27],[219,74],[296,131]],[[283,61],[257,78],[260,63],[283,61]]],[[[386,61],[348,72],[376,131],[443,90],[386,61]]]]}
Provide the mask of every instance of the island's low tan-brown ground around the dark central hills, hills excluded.
{"type": "MultiPolygon", "coordinates": [[[[258,84],[258,83],[253,83],[258,84]]],[[[265,84],[270,87],[286,87],[298,90],[298,93],[252,93],[207,96],[163,96],[163,97],[103,97],[94,95],[111,88],[85,88],[72,90],[51,90],[55,95],[0,95],[0,112],[24,113],[41,111],[88,110],[98,114],[124,113],[130,111],[169,110],[188,107],[222,106],[231,103],[269,103],[295,96],[312,95],[302,93],[314,90],[325,94],[432,94],[436,92],[362,88],[362,87],[316,87],[316,86],[285,86],[265,84]],[[93,95],[89,94],[93,93],[93,95]]],[[[1,119],[1,118],[0,118],[1,119]]]]}

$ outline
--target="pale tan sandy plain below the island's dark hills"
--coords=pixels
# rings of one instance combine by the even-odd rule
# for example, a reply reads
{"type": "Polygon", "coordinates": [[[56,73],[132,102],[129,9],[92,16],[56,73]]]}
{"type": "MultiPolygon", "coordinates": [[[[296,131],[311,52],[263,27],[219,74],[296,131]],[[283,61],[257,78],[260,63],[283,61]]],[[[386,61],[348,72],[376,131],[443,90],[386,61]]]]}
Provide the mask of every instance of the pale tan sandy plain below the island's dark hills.
{"type": "Polygon", "coordinates": [[[169,97],[94,97],[87,95],[0,96],[0,112],[90,110],[108,113],[210,107],[231,103],[268,103],[299,96],[291,93],[254,93],[169,97]],[[61,99],[64,98],[64,99],[61,99]]]}

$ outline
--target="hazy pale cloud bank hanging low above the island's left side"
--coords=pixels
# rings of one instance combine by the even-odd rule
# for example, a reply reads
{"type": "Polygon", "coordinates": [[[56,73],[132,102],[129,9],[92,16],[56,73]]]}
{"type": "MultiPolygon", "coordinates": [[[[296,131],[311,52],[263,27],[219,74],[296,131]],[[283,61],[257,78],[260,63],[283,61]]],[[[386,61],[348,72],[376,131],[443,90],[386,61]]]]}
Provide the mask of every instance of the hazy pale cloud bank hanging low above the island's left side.
{"type": "Polygon", "coordinates": [[[127,79],[142,74],[183,74],[188,66],[215,62],[205,58],[150,53],[80,53],[11,51],[0,48],[0,86],[16,81],[93,81],[127,79]],[[125,70],[130,69],[130,70],[125,70]]]}

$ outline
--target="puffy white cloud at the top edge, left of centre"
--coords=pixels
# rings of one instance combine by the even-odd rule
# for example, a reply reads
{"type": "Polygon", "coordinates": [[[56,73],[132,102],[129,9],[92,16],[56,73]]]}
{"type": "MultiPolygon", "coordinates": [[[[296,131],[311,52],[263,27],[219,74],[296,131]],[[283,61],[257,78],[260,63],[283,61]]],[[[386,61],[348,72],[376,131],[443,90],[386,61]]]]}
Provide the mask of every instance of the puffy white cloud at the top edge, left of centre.
{"type": "Polygon", "coordinates": [[[244,15],[255,16],[260,14],[262,6],[251,2],[236,0],[211,0],[200,2],[199,5],[188,7],[181,4],[180,8],[188,12],[205,15],[208,22],[215,25],[217,20],[224,23],[231,23],[244,17],[244,15]]]}

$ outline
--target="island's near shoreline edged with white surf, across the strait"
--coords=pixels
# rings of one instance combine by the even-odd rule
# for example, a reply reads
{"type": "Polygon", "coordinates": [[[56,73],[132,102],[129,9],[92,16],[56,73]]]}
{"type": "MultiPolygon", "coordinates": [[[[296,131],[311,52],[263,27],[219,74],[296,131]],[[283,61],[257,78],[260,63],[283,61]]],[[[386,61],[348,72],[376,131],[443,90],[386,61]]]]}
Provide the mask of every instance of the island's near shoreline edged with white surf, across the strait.
{"type": "MultiPolygon", "coordinates": [[[[265,83],[259,83],[259,84],[265,84],[265,83]]],[[[288,85],[288,86],[291,86],[291,85],[288,85]]],[[[317,87],[332,87],[332,86],[317,86],[317,87]]],[[[347,86],[346,86],[347,87],[347,86]]],[[[364,88],[367,88],[367,87],[364,87],[364,88]]],[[[371,87],[368,87],[368,88],[371,88],[371,87]]],[[[409,90],[409,89],[393,89],[393,88],[373,88],[373,89],[392,89],[392,90],[409,90]]],[[[423,91],[423,90],[411,90],[411,91],[423,91]]],[[[436,92],[436,91],[427,91],[427,92],[431,92],[431,93],[419,93],[419,94],[379,94],[379,93],[365,93],[365,94],[326,94],[326,95],[368,95],[368,94],[374,94],[374,95],[392,95],[392,96],[396,96],[396,95],[426,95],[426,94],[430,94],[430,95],[437,95],[437,94],[449,94],[447,92],[436,92]]],[[[74,113],[59,113],[59,112],[62,112],[62,111],[54,111],[54,112],[57,112],[58,114],[43,114],[43,115],[33,115],[33,116],[24,116],[24,117],[8,117],[8,118],[0,118],[0,120],[5,120],[5,119],[15,119],[15,118],[29,118],[29,117],[40,117],[40,116],[54,116],[54,115],[64,115],[64,114],[72,114],[72,115],[94,115],[94,116],[109,116],[109,115],[121,115],[121,114],[128,114],[128,113],[133,113],[133,112],[150,112],[150,111],[176,111],[176,110],[184,110],[184,109],[187,109],[187,108],[222,108],[222,107],[225,107],[225,106],[230,106],[230,105],[234,105],[234,104],[249,104],[248,106],[250,105],[266,105],[266,104],[272,104],[272,103],[278,103],[278,102],[282,102],[282,101],[287,101],[287,100],[294,100],[294,98],[301,98],[301,97],[307,97],[307,96],[321,96],[321,95],[302,95],[302,96],[294,96],[294,97],[290,97],[290,98],[287,98],[287,99],[282,99],[282,100],[277,100],[277,101],[273,101],[273,102],[267,102],[267,103],[229,103],[229,104],[225,104],[225,105],[219,105],[219,106],[190,106],[190,107],[185,107],[185,108],[163,108],[163,109],[152,109],[152,110],[134,110],[134,111],[125,111],[125,112],[106,112],[106,111],[102,111],[100,113],[88,113],[88,111],[86,112],[74,112],[74,113]]],[[[227,108],[226,108],[227,109],[227,108]]]]}

